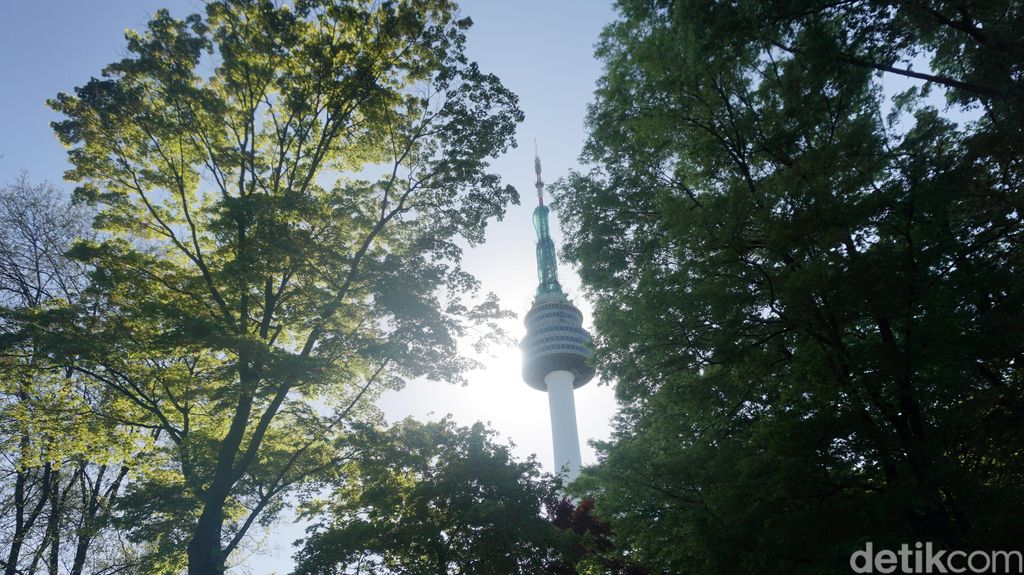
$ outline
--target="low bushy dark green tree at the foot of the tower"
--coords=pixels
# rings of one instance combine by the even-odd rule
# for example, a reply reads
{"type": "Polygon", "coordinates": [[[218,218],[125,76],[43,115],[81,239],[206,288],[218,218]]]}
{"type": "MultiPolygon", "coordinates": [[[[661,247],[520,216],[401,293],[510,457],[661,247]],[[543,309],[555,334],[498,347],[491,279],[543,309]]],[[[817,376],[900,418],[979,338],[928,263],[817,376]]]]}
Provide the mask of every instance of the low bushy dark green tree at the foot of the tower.
{"type": "Polygon", "coordinates": [[[548,572],[571,544],[542,516],[560,485],[493,436],[449,419],[364,430],[334,493],[305,506],[318,519],[296,573],[548,572]]]}

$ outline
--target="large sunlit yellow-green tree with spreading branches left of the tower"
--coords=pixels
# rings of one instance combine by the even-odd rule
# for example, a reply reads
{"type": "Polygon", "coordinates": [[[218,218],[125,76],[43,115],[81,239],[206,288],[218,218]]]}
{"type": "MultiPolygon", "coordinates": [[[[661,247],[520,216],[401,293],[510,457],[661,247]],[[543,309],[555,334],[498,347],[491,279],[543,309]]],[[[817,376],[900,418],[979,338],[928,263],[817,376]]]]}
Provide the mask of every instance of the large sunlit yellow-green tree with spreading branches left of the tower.
{"type": "Polygon", "coordinates": [[[127,56],[50,102],[104,235],[95,321],[22,334],[159,434],[122,521],[147,572],[223,573],[283,495],[329,477],[401,378],[460,381],[501,314],[460,242],[516,202],[487,172],[522,114],[444,0],[210,2],[159,11],[127,56]],[[186,549],[182,556],[180,549],[186,549]]]}

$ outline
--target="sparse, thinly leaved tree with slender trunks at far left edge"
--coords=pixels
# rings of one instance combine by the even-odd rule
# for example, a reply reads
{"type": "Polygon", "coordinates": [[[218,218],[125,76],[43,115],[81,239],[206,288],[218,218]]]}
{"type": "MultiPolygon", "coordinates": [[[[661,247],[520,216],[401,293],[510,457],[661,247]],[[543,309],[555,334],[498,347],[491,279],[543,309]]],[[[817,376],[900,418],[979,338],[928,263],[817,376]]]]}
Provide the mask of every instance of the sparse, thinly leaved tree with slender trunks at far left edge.
{"type": "MultiPolygon", "coordinates": [[[[86,289],[86,269],[65,257],[87,236],[87,212],[49,184],[22,175],[0,191],[0,329],[59,309],[86,289]]],[[[4,573],[104,572],[93,556],[112,539],[109,519],[131,467],[138,430],[98,417],[98,398],[31,345],[0,356],[0,507],[4,573]]],[[[123,567],[116,564],[117,567],[123,567]]]]}

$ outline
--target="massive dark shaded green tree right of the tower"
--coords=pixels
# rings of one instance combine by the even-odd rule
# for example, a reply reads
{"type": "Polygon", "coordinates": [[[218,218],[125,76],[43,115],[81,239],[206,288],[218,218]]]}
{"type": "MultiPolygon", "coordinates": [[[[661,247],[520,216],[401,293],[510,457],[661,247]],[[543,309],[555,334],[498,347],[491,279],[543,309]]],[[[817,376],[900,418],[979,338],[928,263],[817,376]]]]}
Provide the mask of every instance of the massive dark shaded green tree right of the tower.
{"type": "Polygon", "coordinates": [[[620,10],[558,189],[622,403],[579,489],[655,572],[1013,548],[1020,6],[620,10]]]}

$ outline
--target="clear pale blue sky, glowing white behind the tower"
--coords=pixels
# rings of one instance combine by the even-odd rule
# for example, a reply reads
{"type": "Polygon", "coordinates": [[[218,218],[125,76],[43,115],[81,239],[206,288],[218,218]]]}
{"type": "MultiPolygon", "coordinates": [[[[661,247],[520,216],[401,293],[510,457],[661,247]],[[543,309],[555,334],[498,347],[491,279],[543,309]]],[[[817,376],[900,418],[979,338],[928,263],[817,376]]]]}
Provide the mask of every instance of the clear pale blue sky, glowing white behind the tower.
{"type": "MultiPolygon", "coordinates": [[[[521,317],[537,286],[534,230],[534,149],[541,149],[544,176],[552,182],[577,165],[585,138],[584,115],[592,99],[600,64],[593,45],[614,12],[604,0],[463,0],[462,13],[473,18],[468,51],[485,72],[498,75],[520,97],[526,121],[519,126],[519,147],[495,162],[507,182],[516,186],[522,205],[513,207],[503,222],[493,224],[487,241],[466,255],[466,267],[496,293],[502,304],[520,318],[507,325],[523,334],[521,317]]],[[[33,181],[49,180],[71,190],[61,175],[65,150],[49,123],[56,119],[45,105],[57,92],[98,76],[105,64],[124,54],[124,31],[141,29],[150,14],[166,7],[176,16],[202,9],[199,0],[0,0],[0,183],[9,183],[26,170],[33,181]]],[[[555,216],[553,236],[560,233],[555,216]]],[[[559,278],[573,301],[591,319],[590,306],[579,295],[572,270],[560,266],[559,278]]],[[[463,425],[483,421],[516,453],[536,453],[551,465],[547,397],[519,375],[517,349],[496,350],[480,358],[486,368],[471,374],[467,387],[412,382],[389,393],[381,406],[390,421],[407,415],[419,418],[451,413],[463,425]]],[[[608,435],[614,411],[611,389],[598,380],[575,393],[581,440],[608,435]]],[[[583,445],[584,463],[593,450],[583,445]]],[[[238,572],[256,575],[287,572],[291,541],[301,531],[282,526],[260,545],[261,552],[246,559],[238,572]]]]}

